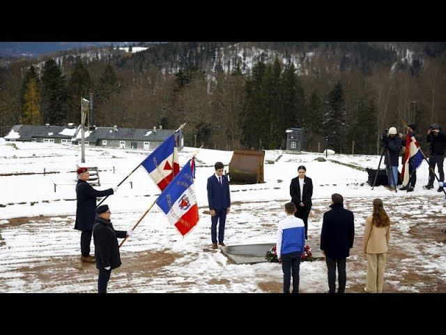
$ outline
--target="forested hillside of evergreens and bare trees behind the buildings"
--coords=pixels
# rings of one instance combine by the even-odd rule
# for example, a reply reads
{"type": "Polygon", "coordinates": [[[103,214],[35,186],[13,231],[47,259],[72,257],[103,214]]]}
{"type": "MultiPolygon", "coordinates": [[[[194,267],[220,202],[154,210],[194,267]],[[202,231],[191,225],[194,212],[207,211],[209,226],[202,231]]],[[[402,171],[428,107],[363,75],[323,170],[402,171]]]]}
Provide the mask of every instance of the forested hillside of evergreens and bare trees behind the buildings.
{"type": "Polygon", "coordinates": [[[187,121],[186,145],[196,136],[216,149],[284,149],[286,128],[304,128],[306,150],[325,149],[327,138],[337,152],[351,153],[355,142],[355,154],[376,154],[382,131],[403,131],[402,120],[423,134],[433,122],[446,126],[445,43],[238,47],[243,52],[231,53],[234,43],[164,43],[135,54],[111,47],[88,60],[9,62],[0,67],[0,136],[14,124],[79,124],[90,91],[97,126],[187,121]],[[254,47],[263,51],[249,65],[254,47]],[[409,49],[417,58],[401,61],[409,49]]]}

